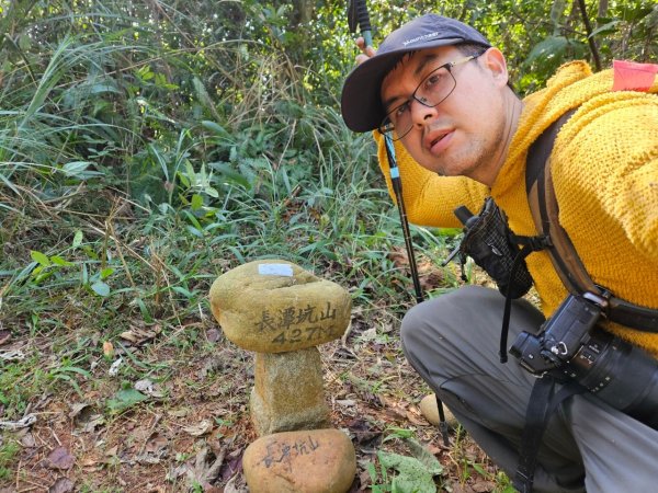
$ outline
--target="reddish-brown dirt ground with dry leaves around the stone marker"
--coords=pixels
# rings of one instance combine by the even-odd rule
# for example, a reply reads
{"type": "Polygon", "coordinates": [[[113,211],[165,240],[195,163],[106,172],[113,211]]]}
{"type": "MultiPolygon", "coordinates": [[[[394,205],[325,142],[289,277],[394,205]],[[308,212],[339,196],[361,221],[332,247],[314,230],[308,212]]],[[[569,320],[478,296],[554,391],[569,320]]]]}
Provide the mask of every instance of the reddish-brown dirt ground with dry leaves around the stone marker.
{"type": "MultiPolygon", "coordinates": [[[[496,471],[483,452],[463,435],[453,434],[444,447],[420,414],[428,389],[399,349],[397,324],[379,319],[375,328],[356,313],[348,336],[320,346],[332,426],[356,450],[351,491],[372,491],[366,465],[376,450],[406,452],[401,440],[383,443],[398,429],[411,431],[443,465],[440,490],[492,491],[496,471]]],[[[56,390],[44,389],[26,409],[36,422],[3,432],[2,444],[19,447],[0,493],[248,491],[241,457],[257,438],[248,410],[253,355],[225,340],[209,319],[175,333],[135,334],[114,348],[113,358],[126,365],[123,378],[111,376],[116,359],[90,359],[91,378],[76,374],[75,386],[48,386],[56,390]],[[140,393],[148,399],[135,402],[126,381],[145,374],[140,393]]],[[[9,340],[1,348],[37,352],[42,359],[58,352],[49,339],[9,340]]]]}

